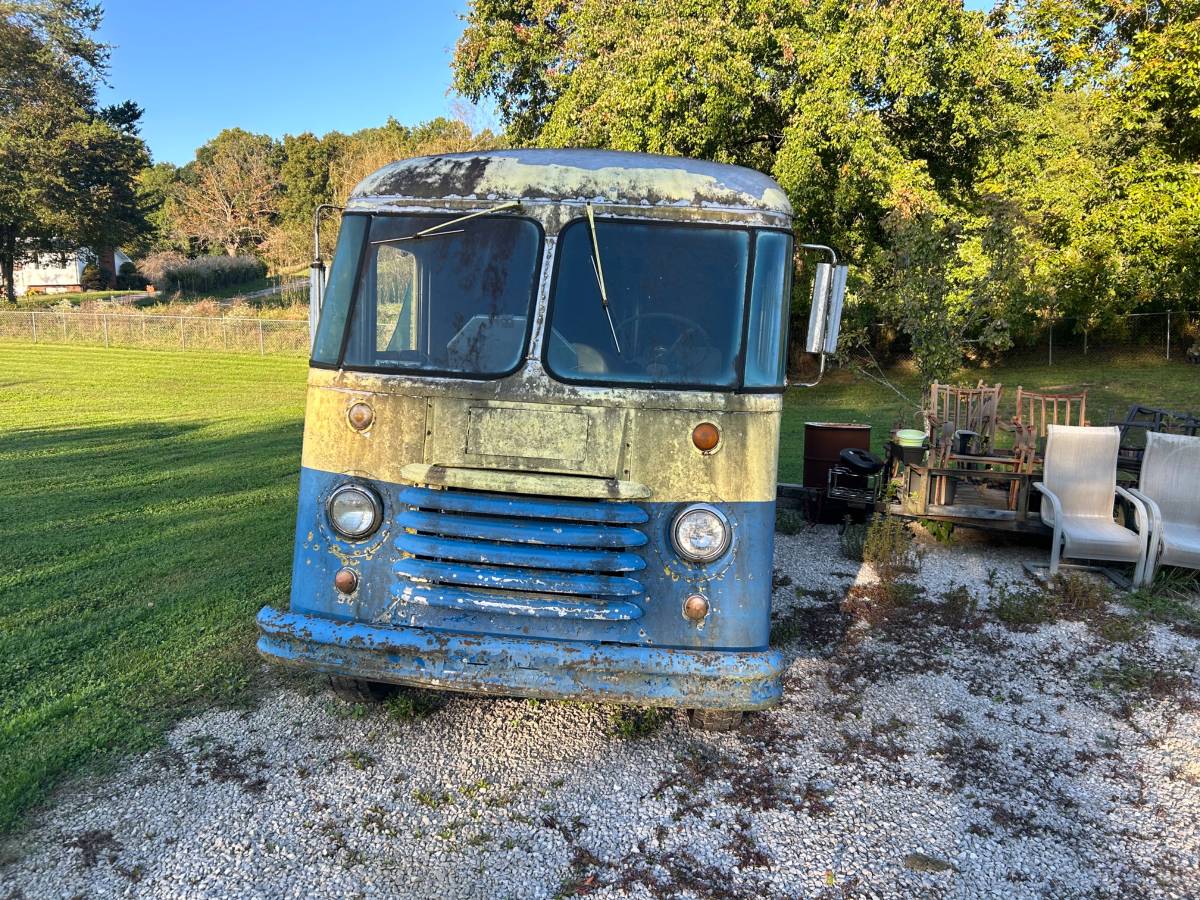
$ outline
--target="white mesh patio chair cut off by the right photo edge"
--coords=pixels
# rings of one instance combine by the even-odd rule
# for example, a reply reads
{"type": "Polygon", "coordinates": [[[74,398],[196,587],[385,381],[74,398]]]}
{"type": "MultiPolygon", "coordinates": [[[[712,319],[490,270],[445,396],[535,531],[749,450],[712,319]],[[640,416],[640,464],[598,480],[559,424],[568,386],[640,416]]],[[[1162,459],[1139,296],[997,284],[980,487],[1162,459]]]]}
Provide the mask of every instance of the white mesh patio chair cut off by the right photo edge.
{"type": "Polygon", "coordinates": [[[1146,434],[1134,497],[1150,512],[1150,584],[1159,565],[1200,569],[1200,437],[1146,434]]]}

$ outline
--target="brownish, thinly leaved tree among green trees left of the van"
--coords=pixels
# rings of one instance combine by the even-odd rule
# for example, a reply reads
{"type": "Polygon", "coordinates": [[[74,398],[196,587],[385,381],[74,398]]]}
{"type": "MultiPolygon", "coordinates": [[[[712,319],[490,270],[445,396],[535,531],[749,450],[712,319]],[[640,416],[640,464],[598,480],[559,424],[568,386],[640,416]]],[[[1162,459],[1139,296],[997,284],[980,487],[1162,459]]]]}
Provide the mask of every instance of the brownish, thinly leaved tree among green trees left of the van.
{"type": "Polygon", "coordinates": [[[265,134],[222,131],[196,151],[174,192],[175,228],[228,256],[257,250],[280,209],[278,162],[265,134]]]}

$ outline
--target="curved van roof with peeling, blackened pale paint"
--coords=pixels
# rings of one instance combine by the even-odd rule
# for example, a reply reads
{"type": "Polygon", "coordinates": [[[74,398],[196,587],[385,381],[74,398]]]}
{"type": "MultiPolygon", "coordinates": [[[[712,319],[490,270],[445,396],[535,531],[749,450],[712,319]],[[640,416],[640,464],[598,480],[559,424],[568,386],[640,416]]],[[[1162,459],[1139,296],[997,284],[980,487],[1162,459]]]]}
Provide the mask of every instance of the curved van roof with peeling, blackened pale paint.
{"type": "Polygon", "coordinates": [[[782,188],[761,172],[617,150],[490,150],[401,160],[362,179],[349,206],[396,199],[592,200],[792,215],[782,188]]]}

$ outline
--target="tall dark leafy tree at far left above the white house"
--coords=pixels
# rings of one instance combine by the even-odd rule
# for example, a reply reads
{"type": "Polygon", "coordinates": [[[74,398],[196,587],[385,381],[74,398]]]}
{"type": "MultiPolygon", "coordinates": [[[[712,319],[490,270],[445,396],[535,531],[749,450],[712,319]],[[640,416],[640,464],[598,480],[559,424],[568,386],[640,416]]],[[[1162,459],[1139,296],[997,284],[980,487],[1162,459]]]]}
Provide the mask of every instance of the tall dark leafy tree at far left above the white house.
{"type": "Polygon", "coordinates": [[[0,280],[43,253],[114,246],[146,227],[134,179],[149,157],[132,103],[101,109],[100,7],[0,1],[0,280]]]}

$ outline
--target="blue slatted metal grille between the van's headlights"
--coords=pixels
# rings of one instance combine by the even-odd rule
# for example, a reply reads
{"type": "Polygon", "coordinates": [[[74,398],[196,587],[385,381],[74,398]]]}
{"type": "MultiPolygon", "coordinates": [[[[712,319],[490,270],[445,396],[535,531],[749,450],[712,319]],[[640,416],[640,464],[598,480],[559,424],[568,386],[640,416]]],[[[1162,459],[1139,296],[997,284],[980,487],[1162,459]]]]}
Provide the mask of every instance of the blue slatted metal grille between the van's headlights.
{"type": "Polygon", "coordinates": [[[624,620],[642,614],[648,516],[616,500],[406,487],[402,601],[486,613],[624,620]]]}

